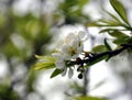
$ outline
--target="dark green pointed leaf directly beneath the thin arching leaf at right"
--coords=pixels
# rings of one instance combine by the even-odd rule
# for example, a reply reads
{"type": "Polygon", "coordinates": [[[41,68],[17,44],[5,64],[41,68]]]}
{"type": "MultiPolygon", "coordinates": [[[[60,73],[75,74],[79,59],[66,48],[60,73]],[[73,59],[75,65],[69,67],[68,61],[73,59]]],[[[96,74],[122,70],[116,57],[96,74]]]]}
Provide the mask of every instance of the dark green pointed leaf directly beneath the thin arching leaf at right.
{"type": "Polygon", "coordinates": [[[108,32],[109,35],[113,36],[113,37],[129,37],[127,34],[124,34],[123,32],[120,32],[119,30],[114,30],[112,32],[108,32]]]}

